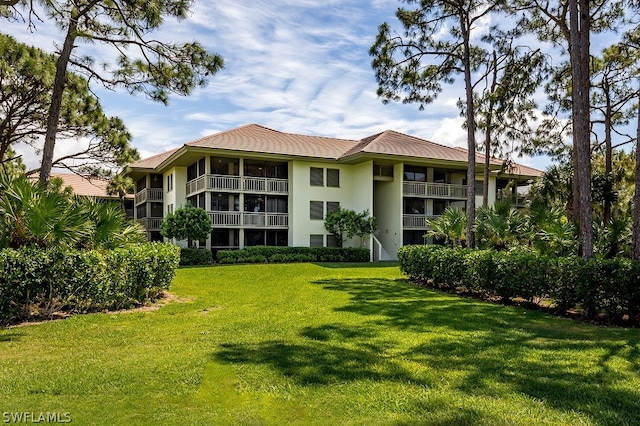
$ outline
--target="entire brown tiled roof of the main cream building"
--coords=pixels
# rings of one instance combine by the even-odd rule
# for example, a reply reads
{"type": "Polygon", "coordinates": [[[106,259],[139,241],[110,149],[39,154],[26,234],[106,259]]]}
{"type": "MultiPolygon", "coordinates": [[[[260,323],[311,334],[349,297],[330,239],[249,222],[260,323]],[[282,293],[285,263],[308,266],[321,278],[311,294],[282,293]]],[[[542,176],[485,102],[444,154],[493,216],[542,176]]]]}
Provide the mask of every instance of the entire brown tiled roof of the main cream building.
{"type": "MultiPolygon", "coordinates": [[[[421,161],[467,162],[466,149],[441,145],[394,130],[386,130],[361,140],[352,140],[286,133],[251,123],[205,136],[188,142],[180,148],[136,161],[130,165],[130,168],[138,171],[141,171],[140,169],[162,169],[172,163],[174,159],[182,158],[189,152],[189,148],[210,148],[335,161],[354,161],[358,156],[373,154],[415,158],[421,161]]],[[[479,164],[483,162],[483,159],[482,154],[477,154],[476,161],[479,164]]],[[[491,164],[492,166],[501,166],[502,161],[491,159],[491,164]]],[[[521,167],[518,169],[518,173],[515,173],[518,175],[537,177],[542,174],[539,170],[521,165],[516,166],[521,167]]]]}

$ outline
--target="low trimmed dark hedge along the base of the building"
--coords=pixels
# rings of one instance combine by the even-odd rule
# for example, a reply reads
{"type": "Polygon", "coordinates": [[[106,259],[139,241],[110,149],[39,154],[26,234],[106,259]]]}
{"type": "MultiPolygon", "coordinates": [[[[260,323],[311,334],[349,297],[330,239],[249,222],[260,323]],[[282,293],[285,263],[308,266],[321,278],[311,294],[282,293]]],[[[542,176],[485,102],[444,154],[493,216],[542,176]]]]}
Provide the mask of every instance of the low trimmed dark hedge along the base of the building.
{"type": "Polygon", "coordinates": [[[254,246],[221,250],[218,263],[368,262],[367,248],[254,246]]]}

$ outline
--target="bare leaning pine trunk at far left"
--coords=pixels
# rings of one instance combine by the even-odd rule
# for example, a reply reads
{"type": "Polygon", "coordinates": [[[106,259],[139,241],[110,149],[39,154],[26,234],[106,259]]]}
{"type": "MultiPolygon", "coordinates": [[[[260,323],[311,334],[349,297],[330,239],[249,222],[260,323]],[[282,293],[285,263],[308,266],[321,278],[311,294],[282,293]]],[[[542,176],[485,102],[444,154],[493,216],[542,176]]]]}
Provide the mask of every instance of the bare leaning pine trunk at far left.
{"type": "Polygon", "coordinates": [[[42,165],[40,166],[40,182],[43,184],[49,181],[51,168],[53,167],[53,153],[56,146],[60,107],[62,105],[62,95],[67,83],[67,64],[69,63],[71,51],[74,48],[73,43],[76,39],[76,28],[76,18],[72,18],[69,22],[69,28],[67,29],[62,51],[56,61],[56,76],[53,83],[53,93],[51,94],[49,116],[47,117],[47,130],[44,137],[44,147],[42,149],[42,165]]]}

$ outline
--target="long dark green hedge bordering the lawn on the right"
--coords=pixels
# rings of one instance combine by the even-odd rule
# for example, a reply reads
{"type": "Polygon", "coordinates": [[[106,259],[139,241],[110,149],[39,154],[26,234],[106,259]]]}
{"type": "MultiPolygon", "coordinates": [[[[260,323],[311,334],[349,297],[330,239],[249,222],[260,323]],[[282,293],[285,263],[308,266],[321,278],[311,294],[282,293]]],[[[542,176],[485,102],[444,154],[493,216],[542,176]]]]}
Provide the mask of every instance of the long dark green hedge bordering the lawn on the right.
{"type": "Polygon", "coordinates": [[[413,281],[445,290],[464,288],[503,299],[550,299],[560,310],[611,319],[640,314],[640,263],[629,259],[552,258],[531,251],[405,246],[400,269],[413,281]]]}

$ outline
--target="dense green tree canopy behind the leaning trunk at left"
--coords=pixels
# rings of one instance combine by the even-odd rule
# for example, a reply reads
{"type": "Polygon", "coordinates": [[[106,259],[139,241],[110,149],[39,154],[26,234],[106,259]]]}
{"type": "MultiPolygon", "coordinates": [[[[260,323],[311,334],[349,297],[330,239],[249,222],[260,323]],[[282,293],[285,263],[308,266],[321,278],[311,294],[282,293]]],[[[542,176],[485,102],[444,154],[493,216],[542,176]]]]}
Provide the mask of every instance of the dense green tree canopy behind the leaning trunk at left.
{"type": "MultiPolygon", "coordinates": [[[[16,144],[42,150],[55,72],[54,55],[0,34],[0,162],[16,144]]],[[[54,158],[52,165],[104,175],[138,159],[124,123],[105,115],[87,80],[67,73],[66,86],[57,132],[77,150],[54,158]]]]}

